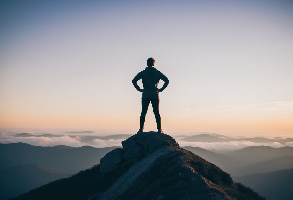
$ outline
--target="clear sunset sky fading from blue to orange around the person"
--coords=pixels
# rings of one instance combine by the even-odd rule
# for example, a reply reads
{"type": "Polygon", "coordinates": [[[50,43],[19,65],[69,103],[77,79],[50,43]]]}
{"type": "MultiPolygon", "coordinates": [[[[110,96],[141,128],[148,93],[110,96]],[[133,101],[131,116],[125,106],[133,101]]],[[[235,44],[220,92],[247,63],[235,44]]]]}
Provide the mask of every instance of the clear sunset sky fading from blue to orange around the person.
{"type": "Polygon", "coordinates": [[[131,81],[154,57],[170,80],[166,134],[292,136],[292,11],[289,0],[0,1],[0,128],[135,133],[131,81]]]}

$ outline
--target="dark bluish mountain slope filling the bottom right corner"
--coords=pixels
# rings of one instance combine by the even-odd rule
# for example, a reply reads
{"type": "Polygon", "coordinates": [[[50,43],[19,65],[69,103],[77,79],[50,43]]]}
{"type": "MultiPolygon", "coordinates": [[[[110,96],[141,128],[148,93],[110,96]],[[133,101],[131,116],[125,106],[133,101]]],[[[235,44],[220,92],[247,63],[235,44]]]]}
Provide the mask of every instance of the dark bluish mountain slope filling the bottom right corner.
{"type": "Polygon", "coordinates": [[[235,176],[233,179],[253,188],[268,200],[291,200],[293,197],[293,169],[235,176]]]}

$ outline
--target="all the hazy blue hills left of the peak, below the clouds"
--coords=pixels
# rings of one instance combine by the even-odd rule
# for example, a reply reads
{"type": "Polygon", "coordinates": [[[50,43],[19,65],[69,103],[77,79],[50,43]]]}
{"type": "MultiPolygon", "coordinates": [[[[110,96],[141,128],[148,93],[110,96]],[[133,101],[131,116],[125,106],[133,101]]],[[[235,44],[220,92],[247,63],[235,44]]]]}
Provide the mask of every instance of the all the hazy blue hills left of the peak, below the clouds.
{"type": "Polygon", "coordinates": [[[0,199],[15,197],[45,183],[90,168],[115,148],[0,144],[0,199]]]}

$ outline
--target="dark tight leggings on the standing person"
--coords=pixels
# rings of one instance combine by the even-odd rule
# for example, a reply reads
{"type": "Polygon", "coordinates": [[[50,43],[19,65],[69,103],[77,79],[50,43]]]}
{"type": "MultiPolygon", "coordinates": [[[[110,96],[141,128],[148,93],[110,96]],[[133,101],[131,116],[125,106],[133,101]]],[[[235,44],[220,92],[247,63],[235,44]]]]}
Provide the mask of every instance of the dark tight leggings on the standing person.
{"type": "Polygon", "coordinates": [[[150,99],[150,98],[142,98],[142,114],[140,115],[140,128],[144,128],[144,121],[146,119],[147,115],[147,109],[149,108],[149,102],[151,102],[151,105],[153,107],[153,111],[156,117],[157,122],[157,128],[161,128],[161,116],[159,113],[159,104],[160,99],[150,99]]]}

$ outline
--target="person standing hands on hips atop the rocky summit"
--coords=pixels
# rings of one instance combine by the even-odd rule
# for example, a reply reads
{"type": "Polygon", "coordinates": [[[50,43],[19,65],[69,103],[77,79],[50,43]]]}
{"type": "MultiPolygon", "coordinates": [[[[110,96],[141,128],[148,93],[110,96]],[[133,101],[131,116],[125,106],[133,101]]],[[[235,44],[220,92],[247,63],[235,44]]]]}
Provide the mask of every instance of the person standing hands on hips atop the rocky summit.
{"type": "Polygon", "coordinates": [[[137,133],[143,132],[144,121],[147,115],[147,110],[150,102],[155,114],[158,132],[163,133],[161,128],[161,116],[159,113],[159,92],[163,92],[163,90],[165,90],[165,88],[169,84],[169,80],[165,75],[163,75],[162,72],[154,68],[154,65],[154,58],[147,59],[147,68],[139,72],[132,80],[132,84],[134,85],[135,89],[139,92],[142,92],[142,113],[140,115],[140,127],[137,133]],[[142,79],[143,89],[141,89],[137,85],[137,81],[140,79],[142,79]],[[163,87],[159,89],[158,84],[160,79],[163,80],[165,83],[163,87]]]}

